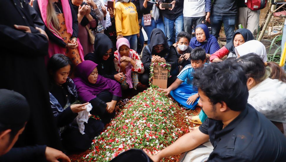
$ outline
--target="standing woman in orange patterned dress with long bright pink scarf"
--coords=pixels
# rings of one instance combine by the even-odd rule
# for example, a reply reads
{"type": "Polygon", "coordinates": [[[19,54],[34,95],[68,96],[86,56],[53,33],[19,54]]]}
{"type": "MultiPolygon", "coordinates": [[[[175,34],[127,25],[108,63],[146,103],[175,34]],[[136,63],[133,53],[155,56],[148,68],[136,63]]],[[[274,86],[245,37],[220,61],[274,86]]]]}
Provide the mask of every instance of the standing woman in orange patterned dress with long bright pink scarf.
{"type": "MultiPolygon", "coordinates": [[[[74,65],[83,61],[83,48],[79,42],[78,19],[69,0],[35,0],[34,9],[41,15],[49,37],[49,57],[61,53],[74,65]]],[[[79,13],[80,14],[80,13],[79,13]]]]}

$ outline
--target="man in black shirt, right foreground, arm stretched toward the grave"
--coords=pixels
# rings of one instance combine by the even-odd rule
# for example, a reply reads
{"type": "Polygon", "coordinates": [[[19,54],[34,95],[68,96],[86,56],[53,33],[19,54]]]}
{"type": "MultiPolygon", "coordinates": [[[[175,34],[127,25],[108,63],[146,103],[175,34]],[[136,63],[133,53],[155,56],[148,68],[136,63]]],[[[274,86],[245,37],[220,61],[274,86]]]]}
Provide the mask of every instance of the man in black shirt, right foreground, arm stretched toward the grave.
{"type": "Polygon", "coordinates": [[[151,156],[153,161],[193,150],[208,140],[214,148],[208,161],[285,161],[286,138],[247,104],[241,65],[227,59],[196,70],[193,77],[200,96],[198,105],[208,118],[199,129],[151,156]]]}

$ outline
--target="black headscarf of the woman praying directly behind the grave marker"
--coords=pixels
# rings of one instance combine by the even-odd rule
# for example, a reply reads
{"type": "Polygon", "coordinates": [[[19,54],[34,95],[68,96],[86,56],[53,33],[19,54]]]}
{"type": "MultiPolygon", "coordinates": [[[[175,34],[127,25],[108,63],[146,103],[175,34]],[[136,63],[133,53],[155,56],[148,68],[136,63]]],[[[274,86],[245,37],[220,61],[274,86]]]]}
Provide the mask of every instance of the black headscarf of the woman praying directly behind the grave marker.
{"type": "Polygon", "coordinates": [[[169,51],[169,45],[167,42],[167,39],[165,37],[165,34],[163,33],[163,31],[161,29],[155,28],[152,30],[151,32],[151,36],[150,36],[150,44],[148,44],[148,47],[150,49],[150,51],[152,51],[152,54],[158,55],[160,57],[165,56],[165,54],[169,51]],[[164,50],[162,50],[160,53],[154,52],[154,46],[163,44],[163,46],[165,47],[164,50]]]}

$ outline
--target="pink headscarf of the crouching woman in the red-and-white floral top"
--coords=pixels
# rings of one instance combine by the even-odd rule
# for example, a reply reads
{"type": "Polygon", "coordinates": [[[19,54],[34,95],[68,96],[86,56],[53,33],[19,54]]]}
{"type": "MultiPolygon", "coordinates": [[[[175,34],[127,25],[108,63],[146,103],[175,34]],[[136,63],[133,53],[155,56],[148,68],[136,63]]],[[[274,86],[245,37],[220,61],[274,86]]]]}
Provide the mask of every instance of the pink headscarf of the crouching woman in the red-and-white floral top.
{"type": "MultiPolygon", "coordinates": [[[[119,48],[122,46],[122,45],[126,45],[129,49],[130,49],[130,44],[129,44],[129,41],[126,39],[126,38],[119,38],[116,42],[116,48],[117,48],[117,53],[118,53],[118,59],[119,59],[119,62],[120,62],[120,53],[119,53],[119,48]]],[[[129,57],[132,58],[132,53],[131,51],[129,50],[129,57]]],[[[120,66],[120,64],[119,64],[120,66]]],[[[120,67],[121,68],[121,67],[120,67]]],[[[126,77],[126,82],[128,83],[129,85],[129,88],[133,88],[133,81],[132,81],[132,77],[131,77],[131,72],[132,72],[132,64],[130,64],[130,62],[128,63],[128,65],[125,67],[125,71],[126,71],[126,74],[125,74],[125,77],[126,77]]]]}

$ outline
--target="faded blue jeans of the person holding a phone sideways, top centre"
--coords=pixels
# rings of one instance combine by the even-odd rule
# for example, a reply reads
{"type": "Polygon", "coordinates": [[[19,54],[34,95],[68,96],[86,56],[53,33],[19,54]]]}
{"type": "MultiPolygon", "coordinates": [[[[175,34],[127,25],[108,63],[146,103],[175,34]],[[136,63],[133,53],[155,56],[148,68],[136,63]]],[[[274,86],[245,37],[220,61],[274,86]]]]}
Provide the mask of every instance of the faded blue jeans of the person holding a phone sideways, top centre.
{"type": "Polygon", "coordinates": [[[176,42],[177,34],[184,31],[184,17],[181,14],[177,19],[170,20],[164,17],[165,21],[165,28],[166,28],[166,35],[167,35],[167,42],[169,46],[173,45],[176,42]],[[174,37],[174,24],[176,27],[176,35],[174,37]]]}

